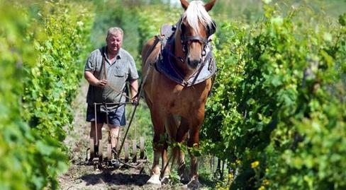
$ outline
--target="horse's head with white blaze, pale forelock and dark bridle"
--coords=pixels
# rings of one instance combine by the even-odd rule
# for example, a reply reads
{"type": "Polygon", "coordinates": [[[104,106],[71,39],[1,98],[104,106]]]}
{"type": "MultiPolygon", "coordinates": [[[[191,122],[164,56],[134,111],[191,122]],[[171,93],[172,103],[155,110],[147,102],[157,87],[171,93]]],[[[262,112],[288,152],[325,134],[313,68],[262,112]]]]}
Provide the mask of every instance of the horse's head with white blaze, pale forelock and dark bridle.
{"type": "Polygon", "coordinates": [[[190,70],[195,70],[201,64],[205,54],[208,37],[216,30],[216,24],[209,16],[208,11],[213,8],[216,0],[207,4],[202,1],[180,1],[185,9],[179,21],[178,29],[185,63],[190,70]]]}

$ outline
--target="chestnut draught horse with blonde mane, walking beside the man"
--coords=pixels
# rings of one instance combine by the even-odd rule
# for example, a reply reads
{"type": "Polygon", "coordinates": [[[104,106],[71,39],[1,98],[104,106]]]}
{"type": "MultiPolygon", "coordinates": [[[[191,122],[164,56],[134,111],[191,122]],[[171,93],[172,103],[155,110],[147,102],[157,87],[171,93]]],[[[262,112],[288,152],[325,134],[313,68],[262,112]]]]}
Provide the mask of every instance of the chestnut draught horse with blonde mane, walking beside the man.
{"type": "MultiPolygon", "coordinates": [[[[172,64],[182,76],[182,81],[189,81],[189,78],[201,68],[208,37],[212,34],[211,30],[215,30],[215,23],[208,15],[208,11],[214,6],[216,0],[207,4],[203,4],[202,1],[189,3],[181,0],[180,2],[185,11],[172,35],[174,42],[172,42],[172,52],[168,55],[174,57],[172,64]]],[[[161,184],[162,180],[169,176],[169,168],[166,167],[169,161],[167,142],[162,139],[166,131],[171,140],[176,142],[183,142],[189,136],[187,146],[198,148],[204,106],[211,90],[211,78],[204,78],[203,81],[192,85],[184,85],[184,83],[172,81],[171,78],[157,71],[157,66],[154,65],[162,50],[159,41],[157,38],[152,38],[143,46],[142,52],[143,90],[155,130],[152,174],[147,181],[150,184],[161,184]],[[162,171],[159,165],[160,156],[162,156],[162,171]]],[[[177,148],[175,153],[178,158],[179,175],[183,177],[185,174],[184,153],[177,148]]],[[[188,180],[190,187],[199,186],[197,159],[191,153],[190,157],[190,175],[185,180],[188,180]]]]}

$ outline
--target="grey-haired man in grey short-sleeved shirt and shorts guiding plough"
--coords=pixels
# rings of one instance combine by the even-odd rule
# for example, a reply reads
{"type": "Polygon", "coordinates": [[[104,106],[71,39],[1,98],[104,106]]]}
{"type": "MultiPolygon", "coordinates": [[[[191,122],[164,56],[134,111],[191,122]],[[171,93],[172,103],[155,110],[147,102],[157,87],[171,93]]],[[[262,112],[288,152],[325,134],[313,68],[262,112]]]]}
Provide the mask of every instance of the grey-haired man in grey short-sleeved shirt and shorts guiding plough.
{"type": "MultiPolygon", "coordinates": [[[[137,102],[138,73],[133,57],[122,49],[123,30],[109,28],[106,37],[106,47],[95,49],[89,55],[84,69],[84,78],[89,82],[86,96],[88,108],[86,121],[91,122],[90,137],[96,139],[95,111],[96,103],[125,102],[125,82],[130,82],[130,93],[133,103],[137,102]]],[[[125,125],[125,105],[107,104],[96,107],[97,137],[102,138],[101,129],[107,123],[111,131],[111,145],[116,148],[120,126],[125,125]]],[[[96,143],[96,142],[95,142],[96,143]]]]}

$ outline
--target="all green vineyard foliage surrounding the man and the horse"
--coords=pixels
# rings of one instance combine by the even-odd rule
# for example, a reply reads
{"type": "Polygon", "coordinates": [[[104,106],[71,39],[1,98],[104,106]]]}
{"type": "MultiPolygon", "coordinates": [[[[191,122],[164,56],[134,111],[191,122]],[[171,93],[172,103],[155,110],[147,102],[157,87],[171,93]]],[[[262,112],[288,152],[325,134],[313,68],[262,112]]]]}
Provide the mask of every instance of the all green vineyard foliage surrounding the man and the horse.
{"type": "MultiPolygon", "coordinates": [[[[345,7],[217,1],[201,160],[215,155],[230,173],[220,180],[201,165],[208,188],[345,189],[345,7]]],[[[0,0],[0,189],[57,189],[86,55],[120,26],[140,71],[142,45],[180,13],[168,1],[0,0]]],[[[145,136],[149,156],[151,134],[143,101],[130,138],[145,136]]]]}

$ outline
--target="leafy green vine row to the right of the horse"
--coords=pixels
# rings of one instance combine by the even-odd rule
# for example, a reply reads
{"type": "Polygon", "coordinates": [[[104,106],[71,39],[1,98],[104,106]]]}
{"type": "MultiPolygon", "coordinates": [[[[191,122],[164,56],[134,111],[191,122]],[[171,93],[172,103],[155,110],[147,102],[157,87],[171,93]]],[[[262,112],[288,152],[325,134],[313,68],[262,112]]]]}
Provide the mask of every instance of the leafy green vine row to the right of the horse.
{"type": "Polygon", "coordinates": [[[204,151],[238,172],[230,189],[345,189],[345,14],[284,12],[223,23],[204,151]]]}

